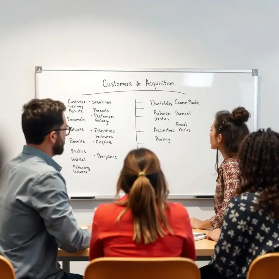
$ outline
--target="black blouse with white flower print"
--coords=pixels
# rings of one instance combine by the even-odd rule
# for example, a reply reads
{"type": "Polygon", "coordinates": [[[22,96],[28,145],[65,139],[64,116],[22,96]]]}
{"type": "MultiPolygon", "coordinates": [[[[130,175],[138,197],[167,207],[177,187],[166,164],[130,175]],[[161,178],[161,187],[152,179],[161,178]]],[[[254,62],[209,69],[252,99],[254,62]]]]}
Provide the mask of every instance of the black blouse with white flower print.
{"type": "Polygon", "coordinates": [[[246,278],[257,256],[279,251],[279,219],[267,208],[254,208],[260,193],[231,199],[210,262],[226,278],[246,278]]]}

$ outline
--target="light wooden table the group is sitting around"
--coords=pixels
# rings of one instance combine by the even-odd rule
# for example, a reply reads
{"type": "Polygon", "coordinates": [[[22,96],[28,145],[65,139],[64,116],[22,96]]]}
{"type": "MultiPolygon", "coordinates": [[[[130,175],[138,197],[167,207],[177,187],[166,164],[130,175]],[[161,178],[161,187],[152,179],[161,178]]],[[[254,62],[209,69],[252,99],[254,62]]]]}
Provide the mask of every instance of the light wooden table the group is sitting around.
{"type": "MultiPolygon", "coordinates": [[[[193,232],[205,232],[206,230],[196,230],[193,232]]],[[[210,261],[211,255],[213,254],[215,244],[217,242],[207,239],[201,239],[195,241],[197,261],[210,261]]],[[[66,272],[70,272],[70,262],[71,261],[89,261],[89,248],[75,252],[67,253],[64,250],[58,249],[57,259],[62,261],[62,269],[66,272]]]]}

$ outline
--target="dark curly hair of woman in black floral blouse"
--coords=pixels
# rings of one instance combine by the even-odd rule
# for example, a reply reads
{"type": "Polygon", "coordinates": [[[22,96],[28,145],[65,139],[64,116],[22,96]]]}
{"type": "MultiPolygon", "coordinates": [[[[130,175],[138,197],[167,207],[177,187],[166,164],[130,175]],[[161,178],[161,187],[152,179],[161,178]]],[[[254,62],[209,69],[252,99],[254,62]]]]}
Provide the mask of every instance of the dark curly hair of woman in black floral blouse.
{"type": "Polygon", "coordinates": [[[240,185],[235,195],[259,191],[255,209],[268,207],[279,218],[279,134],[251,133],[239,150],[240,185]]]}

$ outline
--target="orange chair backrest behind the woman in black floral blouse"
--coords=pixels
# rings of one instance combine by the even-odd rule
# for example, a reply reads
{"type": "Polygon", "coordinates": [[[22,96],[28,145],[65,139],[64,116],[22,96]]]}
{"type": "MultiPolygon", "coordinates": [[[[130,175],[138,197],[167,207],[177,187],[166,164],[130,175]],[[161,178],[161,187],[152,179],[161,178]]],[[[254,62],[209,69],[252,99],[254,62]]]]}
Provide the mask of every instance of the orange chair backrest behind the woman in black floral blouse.
{"type": "Polygon", "coordinates": [[[247,279],[278,278],[279,253],[268,253],[252,261],[247,279]]]}

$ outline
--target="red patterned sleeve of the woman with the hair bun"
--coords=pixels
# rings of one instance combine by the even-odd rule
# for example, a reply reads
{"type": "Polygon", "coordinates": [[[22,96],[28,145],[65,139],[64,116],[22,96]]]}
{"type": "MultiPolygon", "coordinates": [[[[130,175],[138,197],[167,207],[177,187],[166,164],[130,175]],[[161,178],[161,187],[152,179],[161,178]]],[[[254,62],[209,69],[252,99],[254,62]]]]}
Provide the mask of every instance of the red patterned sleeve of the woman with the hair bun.
{"type": "Polygon", "coordinates": [[[218,212],[210,218],[210,225],[213,229],[218,229],[222,226],[224,216],[227,207],[230,203],[230,199],[234,196],[234,193],[239,185],[239,168],[234,165],[230,166],[228,169],[223,169],[223,180],[224,180],[224,200],[222,202],[221,208],[218,212]]]}

